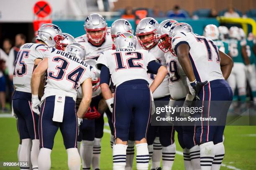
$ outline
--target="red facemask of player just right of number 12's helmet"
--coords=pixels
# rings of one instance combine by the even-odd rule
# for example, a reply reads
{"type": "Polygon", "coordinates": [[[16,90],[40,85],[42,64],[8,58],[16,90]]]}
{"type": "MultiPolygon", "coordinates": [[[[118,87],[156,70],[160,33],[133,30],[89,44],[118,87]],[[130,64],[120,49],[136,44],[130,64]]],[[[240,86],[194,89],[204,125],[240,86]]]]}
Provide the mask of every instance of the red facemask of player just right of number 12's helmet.
{"type": "Polygon", "coordinates": [[[149,33],[136,34],[138,42],[145,50],[150,50],[157,43],[156,30],[149,33]]]}

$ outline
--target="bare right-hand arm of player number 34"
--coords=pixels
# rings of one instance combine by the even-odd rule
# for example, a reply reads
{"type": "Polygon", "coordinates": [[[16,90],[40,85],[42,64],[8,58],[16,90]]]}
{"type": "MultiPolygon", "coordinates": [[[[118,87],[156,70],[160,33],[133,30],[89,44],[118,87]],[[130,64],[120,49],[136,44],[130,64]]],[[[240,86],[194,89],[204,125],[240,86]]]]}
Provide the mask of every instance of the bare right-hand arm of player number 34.
{"type": "Polygon", "coordinates": [[[84,117],[84,114],[87,112],[92,100],[92,79],[90,78],[86,79],[82,83],[81,87],[82,87],[83,97],[82,97],[81,103],[79,104],[77,117],[82,119],[84,117]]]}

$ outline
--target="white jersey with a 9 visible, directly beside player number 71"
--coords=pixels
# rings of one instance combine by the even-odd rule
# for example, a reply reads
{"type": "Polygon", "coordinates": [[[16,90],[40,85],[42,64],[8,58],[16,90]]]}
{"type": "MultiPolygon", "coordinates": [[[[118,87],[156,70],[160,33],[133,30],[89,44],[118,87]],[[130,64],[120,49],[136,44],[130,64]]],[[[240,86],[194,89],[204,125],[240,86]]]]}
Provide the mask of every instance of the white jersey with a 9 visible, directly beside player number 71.
{"type": "Polygon", "coordinates": [[[165,53],[166,67],[168,70],[169,78],[169,91],[173,100],[185,98],[189,93],[187,86],[187,76],[184,73],[181,65],[179,64],[177,56],[171,52],[165,53]]]}

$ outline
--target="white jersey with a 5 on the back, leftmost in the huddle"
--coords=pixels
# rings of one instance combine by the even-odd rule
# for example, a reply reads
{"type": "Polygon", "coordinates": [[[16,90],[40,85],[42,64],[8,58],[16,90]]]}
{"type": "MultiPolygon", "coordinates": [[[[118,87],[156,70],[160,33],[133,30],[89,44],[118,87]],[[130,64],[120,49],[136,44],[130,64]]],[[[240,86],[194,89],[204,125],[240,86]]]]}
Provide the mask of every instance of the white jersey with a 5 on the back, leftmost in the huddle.
{"type": "Polygon", "coordinates": [[[26,43],[20,47],[13,71],[15,90],[31,93],[30,81],[37,58],[43,59],[51,48],[39,43],[26,43]]]}

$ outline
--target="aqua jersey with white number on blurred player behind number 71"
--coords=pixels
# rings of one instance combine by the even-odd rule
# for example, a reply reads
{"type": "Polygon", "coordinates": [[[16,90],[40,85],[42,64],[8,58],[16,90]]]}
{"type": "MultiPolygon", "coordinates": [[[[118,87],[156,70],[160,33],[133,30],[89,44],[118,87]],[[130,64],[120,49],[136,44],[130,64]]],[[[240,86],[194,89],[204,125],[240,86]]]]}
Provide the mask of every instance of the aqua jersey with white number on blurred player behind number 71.
{"type": "Polygon", "coordinates": [[[246,40],[238,41],[236,39],[230,39],[227,42],[230,46],[230,55],[232,56],[234,63],[244,63],[242,46],[246,45],[246,40]]]}

